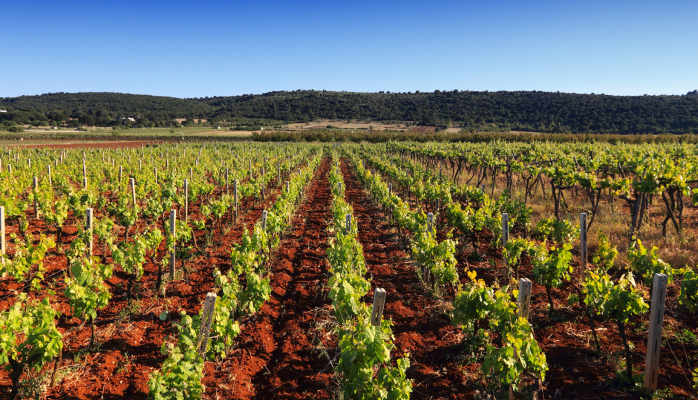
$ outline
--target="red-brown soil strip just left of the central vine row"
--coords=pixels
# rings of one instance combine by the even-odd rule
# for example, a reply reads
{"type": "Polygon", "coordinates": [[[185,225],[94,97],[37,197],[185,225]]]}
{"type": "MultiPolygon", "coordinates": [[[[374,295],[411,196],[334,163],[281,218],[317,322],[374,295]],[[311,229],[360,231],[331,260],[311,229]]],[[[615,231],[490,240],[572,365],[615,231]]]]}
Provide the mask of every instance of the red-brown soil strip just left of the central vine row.
{"type": "MultiPolygon", "coordinates": [[[[237,348],[222,363],[207,364],[209,399],[327,399],[332,366],[314,348],[318,314],[326,315],[329,158],[320,164],[279,251],[272,257],[272,295],[242,325],[237,348]]],[[[325,332],[327,333],[327,332],[325,332]]],[[[320,336],[327,336],[320,334],[320,336]]]]}

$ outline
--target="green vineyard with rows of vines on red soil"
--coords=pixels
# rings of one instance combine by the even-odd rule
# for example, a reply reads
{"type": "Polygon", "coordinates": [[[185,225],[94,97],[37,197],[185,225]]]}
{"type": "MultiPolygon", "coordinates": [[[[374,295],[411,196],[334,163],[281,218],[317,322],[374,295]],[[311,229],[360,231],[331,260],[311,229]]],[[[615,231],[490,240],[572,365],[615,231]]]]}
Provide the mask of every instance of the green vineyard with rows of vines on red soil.
{"type": "Polygon", "coordinates": [[[2,398],[697,396],[694,145],[5,148],[0,177],[2,398]]]}

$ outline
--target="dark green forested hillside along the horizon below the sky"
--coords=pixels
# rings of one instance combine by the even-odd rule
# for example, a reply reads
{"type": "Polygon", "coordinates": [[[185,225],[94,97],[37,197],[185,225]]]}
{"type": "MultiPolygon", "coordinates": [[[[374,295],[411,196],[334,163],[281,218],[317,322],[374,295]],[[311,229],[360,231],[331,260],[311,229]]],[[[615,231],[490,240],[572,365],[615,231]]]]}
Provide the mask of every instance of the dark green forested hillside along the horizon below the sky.
{"type": "MultiPolygon", "coordinates": [[[[216,124],[281,124],[314,119],[413,121],[574,133],[698,131],[698,91],[683,96],[607,96],[543,91],[355,93],[274,91],[260,95],[173,98],[114,93],[55,93],[0,98],[0,124],[110,126],[132,117],[142,126],[175,118],[216,124]]],[[[130,121],[130,120],[129,120],[130,121]]]]}

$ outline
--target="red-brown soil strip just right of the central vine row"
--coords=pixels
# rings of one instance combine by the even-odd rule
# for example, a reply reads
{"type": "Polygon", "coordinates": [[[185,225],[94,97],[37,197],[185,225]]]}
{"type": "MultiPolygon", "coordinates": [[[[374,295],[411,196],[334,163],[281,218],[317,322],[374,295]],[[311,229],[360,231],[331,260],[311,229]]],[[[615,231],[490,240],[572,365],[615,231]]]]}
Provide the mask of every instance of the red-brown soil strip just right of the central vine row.
{"type": "Polygon", "coordinates": [[[395,235],[383,212],[368,197],[354,168],[343,160],[341,170],[371,283],[387,292],[383,316],[394,324],[396,350],[392,358],[409,353],[411,398],[472,399],[475,387],[466,385],[464,373],[468,371],[462,370],[457,360],[461,334],[417,276],[401,235],[395,235]]]}

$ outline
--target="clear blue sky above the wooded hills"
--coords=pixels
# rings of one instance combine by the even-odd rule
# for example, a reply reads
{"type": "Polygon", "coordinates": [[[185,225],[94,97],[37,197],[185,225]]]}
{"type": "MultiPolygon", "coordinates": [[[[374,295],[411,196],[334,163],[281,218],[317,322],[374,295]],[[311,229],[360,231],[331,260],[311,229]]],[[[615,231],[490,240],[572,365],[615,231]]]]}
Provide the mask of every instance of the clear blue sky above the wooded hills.
{"type": "Polygon", "coordinates": [[[697,1],[22,1],[0,97],[698,89],[697,1]]]}

